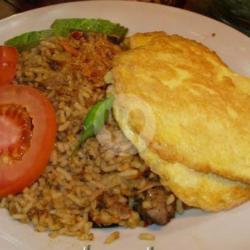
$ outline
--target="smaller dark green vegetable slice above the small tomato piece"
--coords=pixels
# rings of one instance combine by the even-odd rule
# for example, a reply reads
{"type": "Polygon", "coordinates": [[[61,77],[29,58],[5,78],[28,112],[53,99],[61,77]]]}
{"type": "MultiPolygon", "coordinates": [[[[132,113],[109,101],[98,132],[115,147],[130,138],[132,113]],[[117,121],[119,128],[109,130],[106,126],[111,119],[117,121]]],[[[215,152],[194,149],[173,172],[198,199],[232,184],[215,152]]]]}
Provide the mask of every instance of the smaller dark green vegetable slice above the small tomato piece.
{"type": "Polygon", "coordinates": [[[15,36],[7,41],[5,45],[17,48],[19,51],[36,47],[41,40],[53,35],[52,30],[31,31],[15,36]]]}

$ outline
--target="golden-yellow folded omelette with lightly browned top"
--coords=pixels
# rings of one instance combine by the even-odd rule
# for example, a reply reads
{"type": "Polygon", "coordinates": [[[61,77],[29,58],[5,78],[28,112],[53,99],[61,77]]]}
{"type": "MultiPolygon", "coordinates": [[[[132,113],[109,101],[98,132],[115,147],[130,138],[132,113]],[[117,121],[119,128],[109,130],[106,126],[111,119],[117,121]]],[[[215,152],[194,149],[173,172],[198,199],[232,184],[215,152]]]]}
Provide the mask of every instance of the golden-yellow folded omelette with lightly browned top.
{"type": "Polygon", "coordinates": [[[113,111],[140,156],[189,206],[249,200],[250,79],[177,35],[139,33],[127,46],[113,62],[113,111]]]}

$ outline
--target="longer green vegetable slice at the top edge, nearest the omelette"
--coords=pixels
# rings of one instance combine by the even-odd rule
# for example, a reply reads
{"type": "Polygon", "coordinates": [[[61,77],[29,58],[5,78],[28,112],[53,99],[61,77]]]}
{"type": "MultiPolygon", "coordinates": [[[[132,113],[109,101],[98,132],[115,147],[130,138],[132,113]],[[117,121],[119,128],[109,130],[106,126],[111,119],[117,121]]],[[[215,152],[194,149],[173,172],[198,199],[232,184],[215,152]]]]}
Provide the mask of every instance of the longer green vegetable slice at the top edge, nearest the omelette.
{"type": "Polygon", "coordinates": [[[72,18],[72,19],[57,19],[51,25],[55,33],[61,36],[66,36],[72,31],[83,32],[97,32],[118,39],[124,38],[128,29],[118,23],[112,23],[103,19],[85,19],[85,18],[72,18]]]}

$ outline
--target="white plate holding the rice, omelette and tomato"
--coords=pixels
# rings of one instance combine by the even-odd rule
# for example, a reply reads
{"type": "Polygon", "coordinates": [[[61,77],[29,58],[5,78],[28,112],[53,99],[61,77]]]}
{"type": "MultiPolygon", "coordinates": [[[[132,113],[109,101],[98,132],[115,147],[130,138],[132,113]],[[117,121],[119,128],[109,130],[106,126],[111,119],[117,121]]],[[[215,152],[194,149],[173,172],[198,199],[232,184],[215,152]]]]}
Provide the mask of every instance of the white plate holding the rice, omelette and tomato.
{"type": "MultiPolygon", "coordinates": [[[[207,17],[157,4],[92,1],[28,11],[0,21],[0,44],[22,32],[48,28],[56,18],[67,17],[109,19],[129,27],[130,33],[164,30],[180,34],[203,42],[234,70],[250,76],[250,39],[247,36],[207,17]]],[[[95,230],[95,240],[89,243],[67,237],[52,240],[46,233],[36,233],[30,226],[12,220],[0,209],[0,250],[84,250],[87,244],[92,245],[91,250],[146,250],[149,246],[154,246],[155,250],[248,250],[249,218],[249,203],[217,214],[191,210],[164,227],[119,229],[121,239],[106,246],[103,241],[110,229],[95,230]],[[140,241],[140,232],[154,233],[156,241],[140,241]]]]}

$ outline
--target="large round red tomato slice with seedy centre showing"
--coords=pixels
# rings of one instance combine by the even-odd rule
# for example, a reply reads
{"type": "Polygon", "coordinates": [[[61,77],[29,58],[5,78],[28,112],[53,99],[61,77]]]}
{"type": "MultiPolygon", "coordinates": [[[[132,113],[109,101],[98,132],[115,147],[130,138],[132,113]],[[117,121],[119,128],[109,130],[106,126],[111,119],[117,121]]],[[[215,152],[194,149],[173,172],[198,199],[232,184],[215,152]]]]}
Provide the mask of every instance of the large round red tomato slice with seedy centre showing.
{"type": "Polygon", "coordinates": [[[22,191],[41,175],[55,137],[55,111],[42,93],[0,86],[0,197],[22,191]]]}

